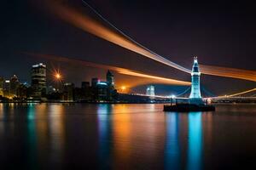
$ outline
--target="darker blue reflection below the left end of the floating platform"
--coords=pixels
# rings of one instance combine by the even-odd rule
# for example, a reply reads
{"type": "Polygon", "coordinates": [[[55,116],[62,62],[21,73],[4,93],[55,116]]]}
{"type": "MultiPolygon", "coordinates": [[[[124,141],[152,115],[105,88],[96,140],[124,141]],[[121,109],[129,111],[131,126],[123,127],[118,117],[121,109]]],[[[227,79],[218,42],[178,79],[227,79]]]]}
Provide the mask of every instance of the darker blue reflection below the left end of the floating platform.
{"type": "Polygon", "coordinates": [[[166,115],[166,147],[165,147],[165,168],[179,169],[180,167],[180,145],[178,140],[178,114],[166,115]]]}

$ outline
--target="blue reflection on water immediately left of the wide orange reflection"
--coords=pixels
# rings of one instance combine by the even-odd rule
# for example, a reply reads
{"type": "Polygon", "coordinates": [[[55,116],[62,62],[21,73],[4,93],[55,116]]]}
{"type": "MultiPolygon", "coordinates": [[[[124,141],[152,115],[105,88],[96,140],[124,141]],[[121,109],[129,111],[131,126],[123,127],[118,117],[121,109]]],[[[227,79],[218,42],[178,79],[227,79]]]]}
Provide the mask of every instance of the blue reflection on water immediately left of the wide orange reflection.
{"type": "MultiPolygon", "coordinates": [[[[99,134],[99,166],[100,169],[105,169],[111,163],[110,161],[110,141],[111,125],[108,120],[112,112],[111,105],[97,105],[97,118],[98,118],[98,134],[99,134]]],[[[108,167],[109,168],[109,167],[108,167]]]]}

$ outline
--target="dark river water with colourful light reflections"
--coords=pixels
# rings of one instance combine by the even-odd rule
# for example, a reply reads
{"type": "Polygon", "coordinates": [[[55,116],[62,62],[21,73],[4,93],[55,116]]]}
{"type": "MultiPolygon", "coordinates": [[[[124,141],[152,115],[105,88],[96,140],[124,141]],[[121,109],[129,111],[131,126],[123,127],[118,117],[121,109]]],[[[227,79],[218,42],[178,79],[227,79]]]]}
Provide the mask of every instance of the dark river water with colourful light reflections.
{"type": "Polygon", "coordinates": [[[256,105],[0,104],[3,169],[256,167],[256,105]]]}

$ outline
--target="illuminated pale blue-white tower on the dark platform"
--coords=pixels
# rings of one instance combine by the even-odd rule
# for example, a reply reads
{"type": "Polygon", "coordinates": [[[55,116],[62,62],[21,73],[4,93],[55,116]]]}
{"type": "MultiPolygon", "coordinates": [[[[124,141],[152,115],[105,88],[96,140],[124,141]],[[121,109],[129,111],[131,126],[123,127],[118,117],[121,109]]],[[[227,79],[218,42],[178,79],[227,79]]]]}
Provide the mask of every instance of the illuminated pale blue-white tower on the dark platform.
{"type": "Polygon", "coordinates": [[[191,94],[189,95],[189,103],[195,105],[203,104],[200,92],[200,75],[197,57],[194,57],[194,65],[191,71],[191,94]]]}

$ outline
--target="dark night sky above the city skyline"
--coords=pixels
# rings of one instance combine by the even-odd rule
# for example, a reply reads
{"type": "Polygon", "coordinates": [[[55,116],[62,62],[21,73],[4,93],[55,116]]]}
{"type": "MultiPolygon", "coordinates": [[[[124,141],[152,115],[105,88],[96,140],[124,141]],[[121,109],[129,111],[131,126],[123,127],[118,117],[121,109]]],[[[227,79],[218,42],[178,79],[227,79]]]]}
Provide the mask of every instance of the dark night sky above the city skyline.
{"type": "MultiPolygon", "coordinates": [[[[80,3],[79,0],[70,2],[80,3]]],[[[190,68],[197,55],[205,65],[255,70],[256,6],[246,1],[87,0],[113,25],[157,54],[190,68]]],[[[120,48],[58,20],[38,8],[37,0],[1,3],[0,76],[16,74],[29,82],[30,67],[44,61],[21,52],[55,54],[115,65],[161,77],[189,81],[188,74],[120,48]],[[33,2],[33,3],[31,3],[33,2]]],[[[86,7],[84,12],[90,13],[86,7]]],[[[91,14],[93,17],[93,14],[91,14]]],[[[96,17],[96,16],[95,16],[96,17]]],[[[44,61],[46,62],[46,61],[44,61]]],[[[104,78],[105,71],[46,62],[60,67],[66,81],[79,84],[90,77],[104,78]]],[[[119,82],[122,76],[117,76],[119,82]]],[[[255,82],[203,76],[202,85],[213,94],[254,88],[255,82]]],[[[159,86],[159,91],[168,91],[159,86]]]]}

